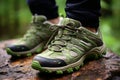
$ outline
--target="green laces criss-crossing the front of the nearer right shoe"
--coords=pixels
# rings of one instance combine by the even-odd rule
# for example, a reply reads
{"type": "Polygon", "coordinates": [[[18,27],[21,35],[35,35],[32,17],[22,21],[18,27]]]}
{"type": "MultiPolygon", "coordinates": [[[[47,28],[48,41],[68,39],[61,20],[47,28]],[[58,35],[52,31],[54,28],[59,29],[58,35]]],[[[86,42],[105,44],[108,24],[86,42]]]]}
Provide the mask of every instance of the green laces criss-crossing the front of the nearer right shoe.
{"type": "Polygon", "coordinates": [[[59,26],[58,35],[48,46],[48,49],[56,52],[61,52],[62,47],[66,46],[66,42],[71,40],[71,36],[75,36],[74,32],[76,30],[77,29],[73,29],[70,26],[59,26]],[[64,33],[64,31],[67,31],[67,33],[64,33]]]}

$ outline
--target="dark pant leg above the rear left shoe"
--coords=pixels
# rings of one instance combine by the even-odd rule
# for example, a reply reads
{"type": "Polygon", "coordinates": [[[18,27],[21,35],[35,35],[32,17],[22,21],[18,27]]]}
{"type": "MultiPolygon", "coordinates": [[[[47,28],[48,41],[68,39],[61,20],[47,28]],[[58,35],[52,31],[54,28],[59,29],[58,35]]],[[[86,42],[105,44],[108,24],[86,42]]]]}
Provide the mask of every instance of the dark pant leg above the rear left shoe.
{"type": "Polygon", "coordinates": [[[27,0],[32,14],[44,15],[47,19],[58,17],[58,7],[55,0],[27,0]]]}

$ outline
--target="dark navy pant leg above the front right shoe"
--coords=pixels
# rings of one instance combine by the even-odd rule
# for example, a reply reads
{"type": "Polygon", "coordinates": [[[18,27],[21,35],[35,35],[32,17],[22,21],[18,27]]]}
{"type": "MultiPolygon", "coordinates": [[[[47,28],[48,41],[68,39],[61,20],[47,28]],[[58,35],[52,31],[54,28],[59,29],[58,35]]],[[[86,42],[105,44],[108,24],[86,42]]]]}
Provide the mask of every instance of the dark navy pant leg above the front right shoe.
{"type": "Polygon", "coordinates": [[[67,17],[79,20],[83,26],[99,26],[100,0],[67,0],[67,17]]]}

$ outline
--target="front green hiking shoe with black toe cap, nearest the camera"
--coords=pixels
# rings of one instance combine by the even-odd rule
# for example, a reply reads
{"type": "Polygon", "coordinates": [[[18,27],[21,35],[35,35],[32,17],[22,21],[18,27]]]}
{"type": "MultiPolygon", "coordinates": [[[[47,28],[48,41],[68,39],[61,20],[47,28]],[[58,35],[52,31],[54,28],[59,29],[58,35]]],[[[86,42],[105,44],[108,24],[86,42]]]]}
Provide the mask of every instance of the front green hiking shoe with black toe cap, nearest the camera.
{"type": "Polygon", "coordinates": [[[105,53],[99,32],[93,33],[69,18],[63,19],[62,24],[48,49],[34,57],[32,68],[48,73],[71,73],[88,57],[98,58],[105,53]]]}

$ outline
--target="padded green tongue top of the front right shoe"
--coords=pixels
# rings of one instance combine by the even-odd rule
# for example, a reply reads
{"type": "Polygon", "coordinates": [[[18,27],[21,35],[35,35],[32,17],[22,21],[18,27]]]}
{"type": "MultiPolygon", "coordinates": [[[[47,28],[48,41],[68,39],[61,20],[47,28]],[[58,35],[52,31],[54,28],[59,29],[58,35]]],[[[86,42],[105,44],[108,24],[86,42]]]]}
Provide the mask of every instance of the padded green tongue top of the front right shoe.
{"type": "Polygon", "coordinates": [[[69,26],[69,27],[71,27],[73,29],[79,28],[80,26],[82,26],[79,21],[74,20],[74,19],[70,19],[70,18],[63,19],[62,22],[61,22],[61,24],[63,26],[69,26]]]}

